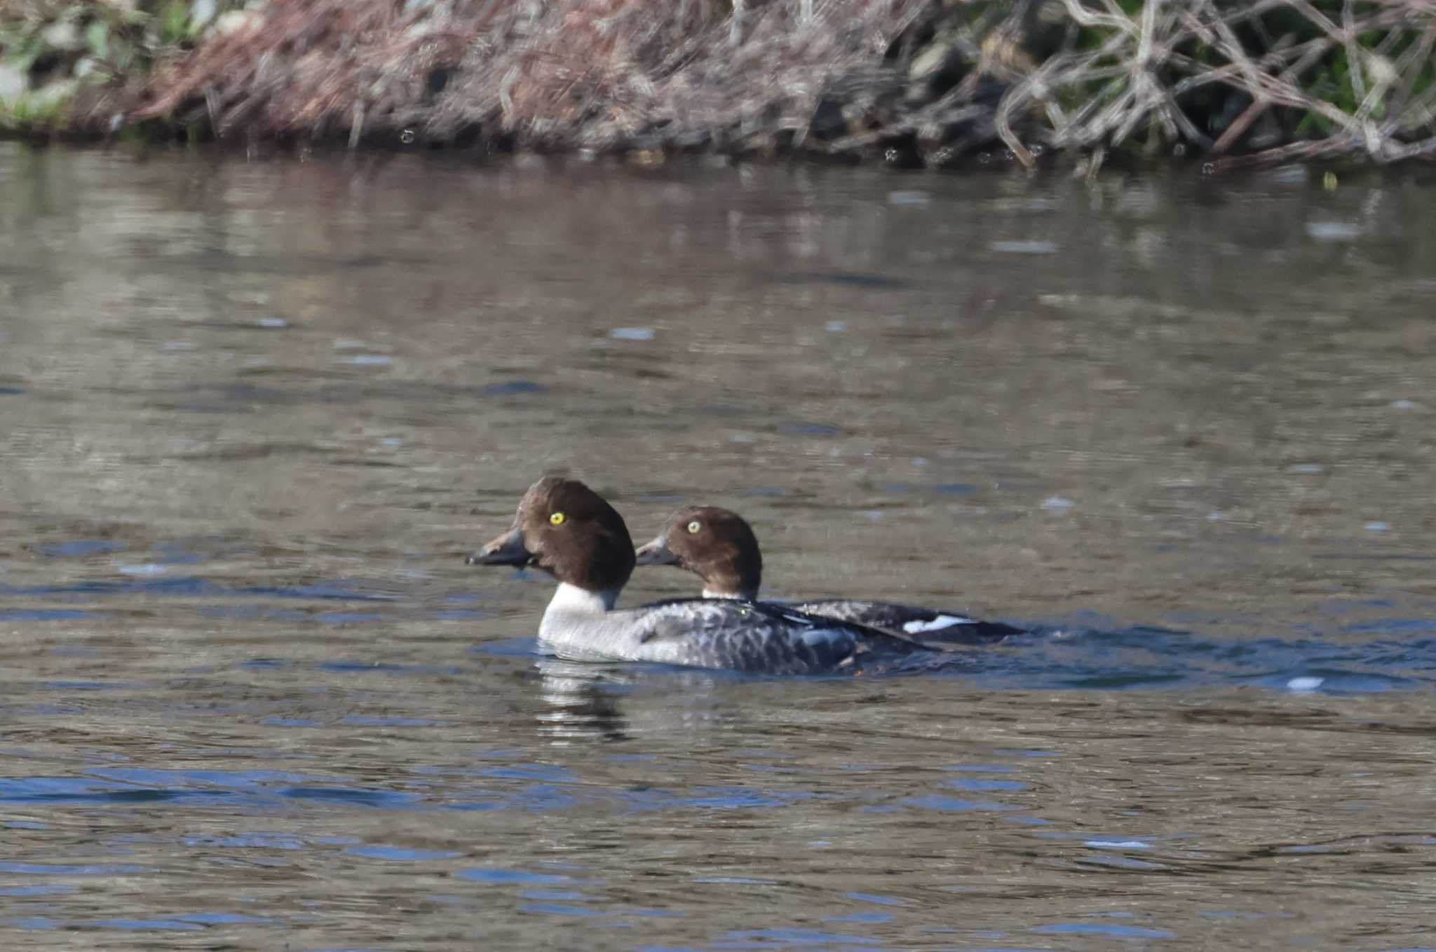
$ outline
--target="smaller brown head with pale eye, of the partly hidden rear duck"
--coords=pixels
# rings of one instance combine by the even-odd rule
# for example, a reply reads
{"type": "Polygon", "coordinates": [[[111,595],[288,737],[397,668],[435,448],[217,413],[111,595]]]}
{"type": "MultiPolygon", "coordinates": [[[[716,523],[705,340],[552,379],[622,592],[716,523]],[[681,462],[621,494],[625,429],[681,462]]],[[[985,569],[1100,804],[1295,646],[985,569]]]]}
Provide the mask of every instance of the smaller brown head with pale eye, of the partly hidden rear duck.
{"type": "Polygon", "coordinates": [[[676,565],[704,579],[704,595],[757,598],[763,552],[742,516],[717,506],[691,506],[668,520],[638,551],[639,565],[676,565]]]}

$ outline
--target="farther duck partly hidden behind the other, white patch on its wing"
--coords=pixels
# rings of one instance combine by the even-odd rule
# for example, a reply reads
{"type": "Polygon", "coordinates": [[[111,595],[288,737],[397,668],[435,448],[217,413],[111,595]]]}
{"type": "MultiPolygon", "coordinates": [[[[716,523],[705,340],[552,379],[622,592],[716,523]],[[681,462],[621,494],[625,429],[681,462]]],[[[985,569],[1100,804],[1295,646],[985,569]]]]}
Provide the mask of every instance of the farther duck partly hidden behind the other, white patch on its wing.
{"type": "MultiPolygon", "coordinates": [[[[675,565],[704,581],[705,598],[758,602],[763,551],[748,520],[721,506],[689,506],[673,513],[663,530],[635,553],[638,565],[675,565]]],[[[853,622],[928,645],[991,645],[1021,628],[979,621],[966,612],[853,598],[784,602],[788,611],[853,622]]]]}

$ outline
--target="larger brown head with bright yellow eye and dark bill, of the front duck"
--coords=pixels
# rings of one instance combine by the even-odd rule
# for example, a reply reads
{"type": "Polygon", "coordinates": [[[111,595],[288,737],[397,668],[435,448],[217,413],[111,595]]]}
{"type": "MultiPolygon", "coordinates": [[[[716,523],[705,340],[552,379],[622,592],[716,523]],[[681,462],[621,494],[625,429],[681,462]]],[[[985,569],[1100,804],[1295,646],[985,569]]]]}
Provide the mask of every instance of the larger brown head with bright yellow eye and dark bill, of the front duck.
{"type": "Polygon", "coordinates": [[[544,476],[518,500],[514,528],[470,565],[534,566],[590,592],[617,592],[633,573],[633,539],[613,506],[576,479],[544,476]]]}

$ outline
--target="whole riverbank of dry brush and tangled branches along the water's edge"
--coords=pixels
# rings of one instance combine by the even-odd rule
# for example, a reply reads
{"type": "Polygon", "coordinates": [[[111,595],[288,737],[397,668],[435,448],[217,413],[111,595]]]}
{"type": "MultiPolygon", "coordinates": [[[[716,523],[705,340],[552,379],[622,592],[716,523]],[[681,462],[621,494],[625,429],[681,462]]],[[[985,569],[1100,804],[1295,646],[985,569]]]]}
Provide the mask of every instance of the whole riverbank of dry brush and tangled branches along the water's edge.
{"type": "Polygon", "coordinates": [[[1436,156],[1423,0],[89,0],[0,13],[0,132],[954,168],[1436,156]]]}

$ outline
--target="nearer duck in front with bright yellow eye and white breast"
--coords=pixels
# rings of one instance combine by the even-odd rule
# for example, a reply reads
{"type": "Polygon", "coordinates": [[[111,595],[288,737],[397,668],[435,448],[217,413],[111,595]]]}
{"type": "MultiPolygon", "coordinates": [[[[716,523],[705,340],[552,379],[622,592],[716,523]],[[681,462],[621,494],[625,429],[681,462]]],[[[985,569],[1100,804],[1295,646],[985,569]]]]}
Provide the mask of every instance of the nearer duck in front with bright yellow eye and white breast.
{"type": "Polygon", "coordinates": [[[678,598],[616,608],[636,566],[623,518],[576,479],[544,476],[513,526],[470,565],[536,568],[557,582],[538,644],[569,661],[646,661],[751,674],[860,674],[922,664],[936,649],[910,638],[791,608],[678,598]]]}

